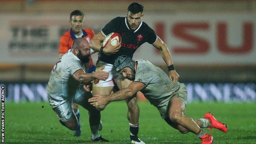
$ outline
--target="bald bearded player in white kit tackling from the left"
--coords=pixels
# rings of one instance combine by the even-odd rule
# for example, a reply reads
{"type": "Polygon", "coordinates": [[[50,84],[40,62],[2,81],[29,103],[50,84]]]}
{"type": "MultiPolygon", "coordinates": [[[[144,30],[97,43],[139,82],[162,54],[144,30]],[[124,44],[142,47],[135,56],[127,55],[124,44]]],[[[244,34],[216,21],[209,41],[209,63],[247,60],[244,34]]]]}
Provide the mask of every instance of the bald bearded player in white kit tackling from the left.
{"type": "Polygon", "coordinates": [[[73,111],[73,102],[75,102],[89,111],[91,142],[109,142],[98,135],[100,112],[87,102],[88,98],[92,97],[91,81],[106,80],[109,73],[105,71],[85,73],[84,64],[89,62],[89,56],[88,41],[84,38],[76,39],[71,49],[53,67],[46,88],[47,97],[63,126],[70,130],[78,127],[78,120],[73,111]],[[86,85],[85,89],[83,85],[86,85]]]}

